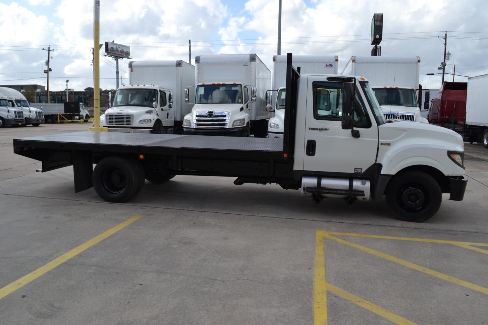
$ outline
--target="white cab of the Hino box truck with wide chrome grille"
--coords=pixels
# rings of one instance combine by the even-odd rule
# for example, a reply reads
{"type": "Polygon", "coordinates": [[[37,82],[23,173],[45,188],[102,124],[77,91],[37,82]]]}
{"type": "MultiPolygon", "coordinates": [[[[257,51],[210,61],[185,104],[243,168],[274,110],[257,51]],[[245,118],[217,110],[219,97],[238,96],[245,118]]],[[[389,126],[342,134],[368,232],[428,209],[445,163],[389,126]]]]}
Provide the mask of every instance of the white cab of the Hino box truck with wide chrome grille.
{"type": "MultiPolygon", "coordinates": [[[[199,83],[195,105],[183,119],[183,134],[249,136],[255,93],[254,87],[239,82],[199,83]]],[[[185,99],[187,94],[185,90],[185,99]]]]}

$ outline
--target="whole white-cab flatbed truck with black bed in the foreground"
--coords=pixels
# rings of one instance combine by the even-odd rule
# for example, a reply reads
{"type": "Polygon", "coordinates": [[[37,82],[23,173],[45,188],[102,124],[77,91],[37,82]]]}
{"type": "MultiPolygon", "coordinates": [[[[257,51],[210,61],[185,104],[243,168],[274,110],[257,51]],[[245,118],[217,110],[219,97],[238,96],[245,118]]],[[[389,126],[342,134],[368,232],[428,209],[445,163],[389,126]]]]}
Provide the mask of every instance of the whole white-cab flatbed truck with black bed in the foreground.
{"type": "Polygon", "coordinates": [[[437,212],[442,193],[463,199],[461,135],[386,120],[366,78],[300,76],[291,62],[288,54],[283,139],[87,131],[14,139],[13,150],[40,160],[42,172],[73,165],[75,192],[94,187],[108,202],[129,200],[145,179],[162,183],[177,174],[277,183],[317,203],[386,195],[398,218],[415,222],[437,212]],[[330,106],[338,114],[328,114],[330,106]]]}

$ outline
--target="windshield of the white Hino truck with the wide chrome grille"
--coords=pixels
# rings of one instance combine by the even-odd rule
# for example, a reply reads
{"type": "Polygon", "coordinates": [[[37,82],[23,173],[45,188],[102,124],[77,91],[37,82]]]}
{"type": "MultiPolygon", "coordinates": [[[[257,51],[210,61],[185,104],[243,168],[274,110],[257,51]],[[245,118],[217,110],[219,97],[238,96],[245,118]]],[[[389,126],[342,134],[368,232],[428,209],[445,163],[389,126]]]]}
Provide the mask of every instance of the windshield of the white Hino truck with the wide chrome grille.
{"type": "Polygon", "coordinates": [[[195,104],[243,104],[241,85],[198,85],[195,104]]]}

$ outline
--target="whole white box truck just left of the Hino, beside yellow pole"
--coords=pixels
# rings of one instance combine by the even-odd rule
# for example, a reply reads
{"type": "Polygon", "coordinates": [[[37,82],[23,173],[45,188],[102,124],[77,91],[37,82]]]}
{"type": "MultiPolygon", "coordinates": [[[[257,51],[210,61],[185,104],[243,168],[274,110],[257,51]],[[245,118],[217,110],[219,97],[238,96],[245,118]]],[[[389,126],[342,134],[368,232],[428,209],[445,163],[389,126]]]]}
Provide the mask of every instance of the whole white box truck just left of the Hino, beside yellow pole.
{"type": "Polygon", "coordinates": [[[195,66],[182,60],[130,61],[129,84],[117,90],[113,106],[100,117],[109,132],[182,134],[183,100],[195,85],[195,66]]]}

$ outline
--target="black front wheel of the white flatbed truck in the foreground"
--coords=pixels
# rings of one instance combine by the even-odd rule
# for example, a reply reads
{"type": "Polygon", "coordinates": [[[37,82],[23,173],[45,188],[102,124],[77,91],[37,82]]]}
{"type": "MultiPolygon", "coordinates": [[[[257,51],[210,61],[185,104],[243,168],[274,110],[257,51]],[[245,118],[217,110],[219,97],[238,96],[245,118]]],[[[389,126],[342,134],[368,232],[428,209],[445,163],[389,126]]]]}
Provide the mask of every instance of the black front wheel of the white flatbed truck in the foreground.
{"type": "Polygon", "coordinates": [[[386,204],[403,221],[426,221],[439,210],[441,202],[441,188],[426,172],[400,173],[386,189],[386,204]]]}

